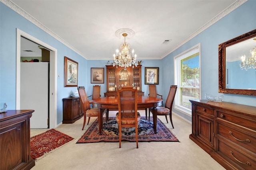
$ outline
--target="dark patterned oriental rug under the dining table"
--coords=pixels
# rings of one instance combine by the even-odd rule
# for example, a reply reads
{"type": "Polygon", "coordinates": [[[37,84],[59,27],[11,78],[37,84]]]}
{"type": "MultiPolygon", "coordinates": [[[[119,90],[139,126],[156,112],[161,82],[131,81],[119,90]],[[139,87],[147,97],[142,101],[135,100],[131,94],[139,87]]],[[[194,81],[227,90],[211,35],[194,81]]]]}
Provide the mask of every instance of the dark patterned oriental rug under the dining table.
{"type": "MultiPolygon", "coordinates": [[[[140,131],[138,134],[139,142],[150,141],[168,141],[179,142],[172,132],[157,118],[157,133],[154,133],[153,120],[146,120],[145,117],[140,119],[140,131]]],[[[94,142],[119,142],[118,124],[116,117],[109,117],[108,123],[103,123],[102,135],[99,135],[98,119],[92,123],[84,135],[76,143],[94,143],[94,142]]],[[[122,128],[122,141],[136,142],[135,127],[122,128]]]]}

